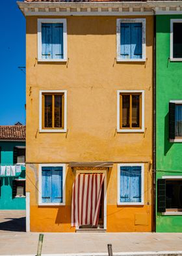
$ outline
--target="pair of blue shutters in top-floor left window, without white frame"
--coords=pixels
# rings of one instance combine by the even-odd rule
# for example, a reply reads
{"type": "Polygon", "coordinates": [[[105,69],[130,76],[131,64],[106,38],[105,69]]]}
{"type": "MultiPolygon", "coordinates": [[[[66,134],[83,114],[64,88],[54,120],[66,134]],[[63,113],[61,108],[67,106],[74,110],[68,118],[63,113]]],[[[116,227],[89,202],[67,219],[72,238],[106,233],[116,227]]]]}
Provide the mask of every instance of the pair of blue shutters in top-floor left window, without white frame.
{"type": "Polygon", "coordinates": [[[42,23],[42,59],[63,59],[63,24],[42,23]]]}

